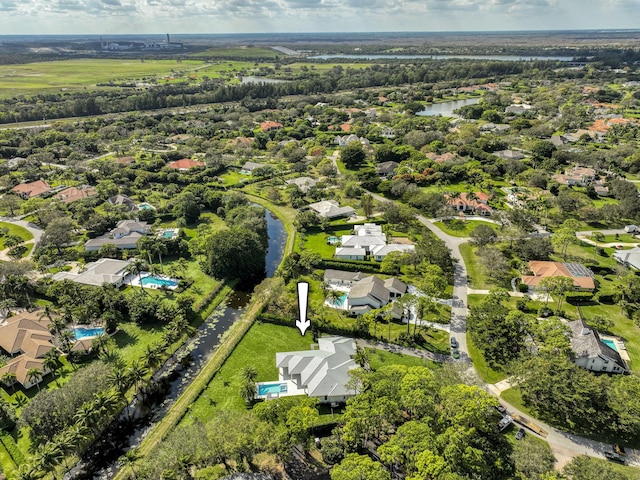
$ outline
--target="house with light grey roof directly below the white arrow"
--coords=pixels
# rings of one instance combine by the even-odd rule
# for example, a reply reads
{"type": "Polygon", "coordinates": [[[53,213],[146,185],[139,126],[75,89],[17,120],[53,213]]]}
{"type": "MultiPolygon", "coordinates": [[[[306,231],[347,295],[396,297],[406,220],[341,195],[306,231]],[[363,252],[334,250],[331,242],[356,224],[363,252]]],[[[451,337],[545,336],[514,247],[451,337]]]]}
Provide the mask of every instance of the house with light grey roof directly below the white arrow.
{"type": "Polygon", "coordinates": [[[356,343],[352,338],[320,337],[316,350],[276,353],[278,380],[294,382],[320,403],[344,403],[356,392],[347,387],[356,343]]]}

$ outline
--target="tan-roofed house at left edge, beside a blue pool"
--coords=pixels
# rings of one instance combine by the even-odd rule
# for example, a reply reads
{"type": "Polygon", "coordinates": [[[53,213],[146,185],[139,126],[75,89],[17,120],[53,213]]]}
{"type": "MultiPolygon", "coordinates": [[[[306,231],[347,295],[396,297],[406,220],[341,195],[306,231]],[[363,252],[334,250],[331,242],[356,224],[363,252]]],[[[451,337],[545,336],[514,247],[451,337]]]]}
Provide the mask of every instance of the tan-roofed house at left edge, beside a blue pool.
{"type": "Polygon", "coordinates": [[[56,347],[48,323],[48,319],[40,317],[40,311],[33,311],[9,317],[0,326],[0,348],[12,356],[0,368],[0,378],[5,373],[13,373],[18,383],[24,388],[31,388],[49,373],[44,366],[44,357],[56,347]],[[31,369],[39,370],[41,375],[31,378],[31,369]]]}

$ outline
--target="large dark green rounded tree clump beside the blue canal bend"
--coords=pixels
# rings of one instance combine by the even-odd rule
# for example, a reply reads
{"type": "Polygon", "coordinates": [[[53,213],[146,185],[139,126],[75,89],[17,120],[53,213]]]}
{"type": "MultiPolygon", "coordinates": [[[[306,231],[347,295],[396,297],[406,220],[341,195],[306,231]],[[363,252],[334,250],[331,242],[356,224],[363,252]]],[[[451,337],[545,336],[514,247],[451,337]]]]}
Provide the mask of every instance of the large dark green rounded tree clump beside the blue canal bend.
{"type": "Polygon", "coordinates": [[[208,239],[205,272],[216,278],[255,281],[264,276],[266,249],[254,232],[223,230],[208,239]]]}

